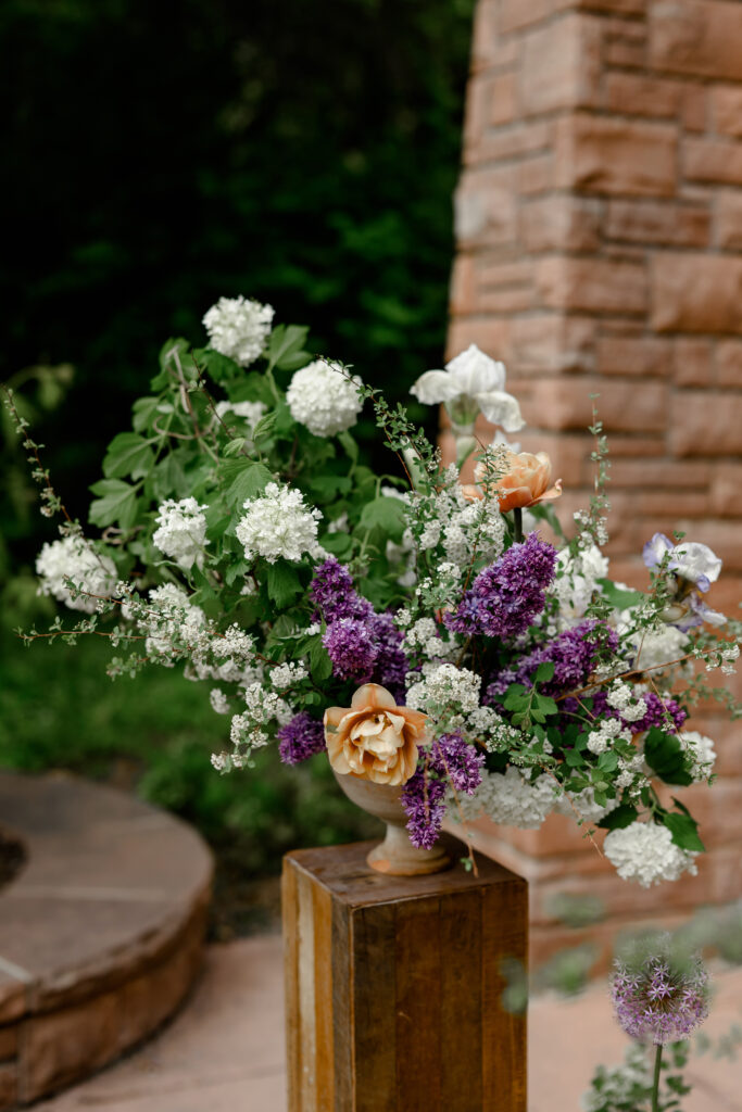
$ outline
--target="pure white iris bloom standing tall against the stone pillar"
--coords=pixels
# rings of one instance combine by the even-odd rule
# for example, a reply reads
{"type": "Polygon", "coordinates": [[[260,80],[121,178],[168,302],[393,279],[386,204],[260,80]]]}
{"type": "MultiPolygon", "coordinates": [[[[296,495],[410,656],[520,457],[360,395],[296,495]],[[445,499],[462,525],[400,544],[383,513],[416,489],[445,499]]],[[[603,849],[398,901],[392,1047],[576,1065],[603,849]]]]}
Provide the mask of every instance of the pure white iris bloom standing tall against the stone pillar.
{"type": "Polygon", "coordinates": [[[424,405],[445,403],[456,425],[471,425],[482,410],[493,425],[517,433],[525,421],[512,394],[505,393],[505,365],[472,344],[446,364],[445,370],[427,370],[410,388],[424,405]]]}

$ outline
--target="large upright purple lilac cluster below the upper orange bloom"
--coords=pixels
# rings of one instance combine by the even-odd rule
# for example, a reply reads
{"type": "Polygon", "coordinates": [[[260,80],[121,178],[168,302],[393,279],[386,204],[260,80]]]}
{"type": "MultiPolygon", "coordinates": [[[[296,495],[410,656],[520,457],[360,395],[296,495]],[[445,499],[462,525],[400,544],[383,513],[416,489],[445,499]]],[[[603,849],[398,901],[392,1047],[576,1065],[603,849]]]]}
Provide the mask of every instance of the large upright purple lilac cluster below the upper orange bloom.
{"type": "Polygon", "coordinates": [[[555,563],[554,546],[530,533],[479,572],[446,625],[456,633],[517,637],[543,610],[555,563]]]}

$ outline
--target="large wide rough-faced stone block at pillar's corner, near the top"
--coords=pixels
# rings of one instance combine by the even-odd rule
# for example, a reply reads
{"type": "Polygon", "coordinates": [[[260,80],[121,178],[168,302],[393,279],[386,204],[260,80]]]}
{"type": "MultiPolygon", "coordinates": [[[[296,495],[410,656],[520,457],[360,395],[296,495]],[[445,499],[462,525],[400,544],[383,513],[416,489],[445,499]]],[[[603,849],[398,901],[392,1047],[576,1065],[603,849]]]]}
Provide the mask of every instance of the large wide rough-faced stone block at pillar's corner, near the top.
{"type": "Polygon", "coordinates": [[[585,192],[669,197],[676,146],[670,125],[578,112],[557,121],[556,182],[585,192]]]}

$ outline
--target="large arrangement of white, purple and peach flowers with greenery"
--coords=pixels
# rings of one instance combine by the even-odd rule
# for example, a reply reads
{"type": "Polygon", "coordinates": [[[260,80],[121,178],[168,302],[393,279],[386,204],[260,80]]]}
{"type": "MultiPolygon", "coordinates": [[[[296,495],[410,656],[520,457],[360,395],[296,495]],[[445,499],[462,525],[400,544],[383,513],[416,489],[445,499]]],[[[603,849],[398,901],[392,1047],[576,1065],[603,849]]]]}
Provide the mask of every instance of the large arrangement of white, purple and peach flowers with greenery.
{"type": "Polygon", "coordinates": [[[70,519],[16,414],[41,510],[62,518],[40,590],[82,612],[22,636],[102,634],[120,651],[111,676],[182,666],[229,719],[217,770],[269,744],[287,764],[327,753],[339,775],[399,787],[415,845],[434,844],[446,811],[524,827],[557,811],[606,827],[627,880],[695,872],[696,823],[663,785],[713,775],[713,742],[684,727],[706,673],[739,656],[740,624],[703,599],[719,558],[656,535],[646,590],[613,583],[596,418],[595,494],[567,538],[547,456],[503,435],[523,419],[501,363],[471,347],[414,384],[448,407],[458,464],[444,467],[403,407],[273,317],[221,298],[208,346],[165,345],[91,488],[99,539],[70,519]],[[364,405],[392,475],[352,435],[364,405]],[[488,445],[479,409],[503,430],[488,445]]]}

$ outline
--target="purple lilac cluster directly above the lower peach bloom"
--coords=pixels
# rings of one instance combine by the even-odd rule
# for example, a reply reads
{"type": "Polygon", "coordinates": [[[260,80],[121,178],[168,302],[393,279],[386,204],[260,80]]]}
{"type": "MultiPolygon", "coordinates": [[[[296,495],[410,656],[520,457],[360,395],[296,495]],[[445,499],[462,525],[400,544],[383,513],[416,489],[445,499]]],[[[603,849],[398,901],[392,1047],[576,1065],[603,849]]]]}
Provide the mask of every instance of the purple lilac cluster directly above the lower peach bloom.
{"type": "Polygon", "coordinates": [[[365,684],[375,681],[404,695],[409,663],[402,651],[403,634],[390,614],[376,614],[357,594],[346,567],[334,557],[325,560],[311,582],[310,597],[327,623],[323,645],[338,679],[365,684]]]}

